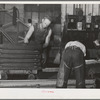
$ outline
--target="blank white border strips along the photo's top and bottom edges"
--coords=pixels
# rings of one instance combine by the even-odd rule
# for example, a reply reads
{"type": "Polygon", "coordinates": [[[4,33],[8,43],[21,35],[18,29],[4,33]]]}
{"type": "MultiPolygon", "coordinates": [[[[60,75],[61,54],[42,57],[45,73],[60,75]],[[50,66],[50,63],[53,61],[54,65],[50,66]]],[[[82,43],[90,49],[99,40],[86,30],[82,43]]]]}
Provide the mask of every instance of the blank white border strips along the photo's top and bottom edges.
{"type": "MultiPolygon", "coordinates": [[[[25,4],[98,4],[99,0],[24,0],[25,4]],[[31,2],[30,2],[31,1],[31,2]],[[58,2],[59,1],[59,2],[58,2]]],[[[24,4],[23,0],[0,0],[0,4],[24,4]],[[17,2],[16,2],[17,1],[17,2]]],[[[100,89],[45,89],[45,88],[0,88],[0,99],[100,99],[100,89]]]]}

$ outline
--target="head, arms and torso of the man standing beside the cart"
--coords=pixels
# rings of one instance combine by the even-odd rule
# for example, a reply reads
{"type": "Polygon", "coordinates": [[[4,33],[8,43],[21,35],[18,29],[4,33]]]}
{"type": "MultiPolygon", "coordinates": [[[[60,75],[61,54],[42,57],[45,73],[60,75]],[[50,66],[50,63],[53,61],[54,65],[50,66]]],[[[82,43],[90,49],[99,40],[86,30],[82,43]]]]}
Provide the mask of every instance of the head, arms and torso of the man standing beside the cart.
{"type": "Polygon", "coordinates": [[[51,23],[51,18],[49,16],[44,17],[42,19],[42,23],[33,26],[29,28],[29,31],[27,32],[25,38],[24,38],[24,43],[28,43],[30,37],[32,34],[34,35],[34,42],[36,44],[41,44],[43,47],[47,47],[49,42],[50,42],[50,37],[52,34],[52,30],[50,27],[48,27],[51,23]]]}

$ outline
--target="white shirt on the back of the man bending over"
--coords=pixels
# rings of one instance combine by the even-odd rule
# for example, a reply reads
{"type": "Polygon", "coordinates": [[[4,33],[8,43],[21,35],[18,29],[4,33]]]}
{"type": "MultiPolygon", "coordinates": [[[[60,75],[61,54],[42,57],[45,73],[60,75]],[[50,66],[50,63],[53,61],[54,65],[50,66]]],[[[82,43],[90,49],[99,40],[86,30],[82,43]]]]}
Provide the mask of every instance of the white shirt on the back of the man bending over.
{"type": "Polygon", "coordinates": [[[82,50],[82,52],[84,53],[84,56],[86,56],[86,48],[85,48],[85,46],[84,46],[82,43],[80,43],[80,42],[78,42],[78,41],[70,41],[70,42],[68,42],[68,43],[65,45],[65,49],[66,49],[67,47],[70,47],[70,46],[79,47],[79,48],[82,50]]]}

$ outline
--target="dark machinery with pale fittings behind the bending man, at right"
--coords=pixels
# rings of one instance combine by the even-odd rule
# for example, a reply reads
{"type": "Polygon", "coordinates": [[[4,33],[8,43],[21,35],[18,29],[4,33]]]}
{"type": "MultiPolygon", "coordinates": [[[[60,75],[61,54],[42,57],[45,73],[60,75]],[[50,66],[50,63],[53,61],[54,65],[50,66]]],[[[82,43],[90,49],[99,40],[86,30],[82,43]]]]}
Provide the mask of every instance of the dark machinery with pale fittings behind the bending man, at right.
{"type": "Polygon", "coordinates": [[[96,78],[96,75],[100,74],[100,61],[97,60],[100,57],[100,49],[93,42],[100,31],[99,20],[100,16],[68,15],[66,31],[62,36],[63,45],[68,41],[79,40],[86,46],[86,78],[96,78]]]}

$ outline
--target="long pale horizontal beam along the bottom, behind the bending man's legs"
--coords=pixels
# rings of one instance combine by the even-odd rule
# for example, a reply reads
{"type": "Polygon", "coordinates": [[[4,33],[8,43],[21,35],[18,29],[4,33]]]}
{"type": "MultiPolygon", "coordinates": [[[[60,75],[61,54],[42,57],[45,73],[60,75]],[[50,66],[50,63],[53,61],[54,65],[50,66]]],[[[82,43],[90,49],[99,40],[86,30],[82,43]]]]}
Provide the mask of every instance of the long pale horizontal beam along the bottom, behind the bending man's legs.
{"type": "MultiPolygon", "coordinates": [[[[95,80],[85,80],[86,87],[95,86],[95,80]]],[[[76,81],[69,80],[68,88],[75,88],[76,81]]],[[[56,88],[56,79],[37,79],[37,80],[1,80],[0,87],[34,87],[34,88],[56,88]]]]}

